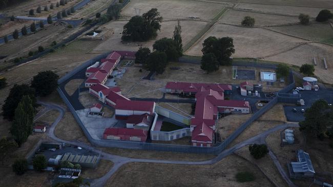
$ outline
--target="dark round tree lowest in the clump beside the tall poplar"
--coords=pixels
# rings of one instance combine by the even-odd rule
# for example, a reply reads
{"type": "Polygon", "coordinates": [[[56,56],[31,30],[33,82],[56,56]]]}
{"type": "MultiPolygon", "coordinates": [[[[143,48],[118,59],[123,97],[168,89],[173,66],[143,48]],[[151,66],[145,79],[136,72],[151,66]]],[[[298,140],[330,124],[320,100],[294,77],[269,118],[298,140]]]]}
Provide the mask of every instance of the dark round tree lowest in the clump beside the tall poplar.
{"type": "Polygon", "coordinates": [[[162,74],[167,63],[166,54],[164,52],[155,51],[149,55],[148,59],[143,64],[143,68],[162,74]]]}

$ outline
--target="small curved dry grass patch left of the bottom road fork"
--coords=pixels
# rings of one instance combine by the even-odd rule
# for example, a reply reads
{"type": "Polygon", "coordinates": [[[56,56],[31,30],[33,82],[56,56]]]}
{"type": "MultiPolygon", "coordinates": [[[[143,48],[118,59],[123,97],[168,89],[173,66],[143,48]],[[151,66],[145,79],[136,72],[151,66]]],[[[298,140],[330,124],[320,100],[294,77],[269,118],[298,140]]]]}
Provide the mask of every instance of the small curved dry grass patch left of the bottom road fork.
{"type": "Polygon", "coordinates": [[[109,160],[100,159],[98,166],[93,168],[82,169],[82,177],[87,179],[95,179],[104,176],[113,167],[113,162],[109,160]]]}

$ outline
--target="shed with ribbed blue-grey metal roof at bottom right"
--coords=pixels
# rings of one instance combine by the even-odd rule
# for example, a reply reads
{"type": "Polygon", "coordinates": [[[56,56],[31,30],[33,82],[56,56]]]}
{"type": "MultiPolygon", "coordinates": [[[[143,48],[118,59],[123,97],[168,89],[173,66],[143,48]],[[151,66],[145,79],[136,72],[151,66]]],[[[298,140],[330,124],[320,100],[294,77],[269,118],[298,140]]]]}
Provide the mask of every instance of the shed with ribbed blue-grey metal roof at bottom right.
{"type": "Polygon", "coordinates": [[[297,161],[290,162],[289,173],[291,178],[314,177],[315,169],[312,165],[310,156],[303,150],[297,150],[297,161]]]}

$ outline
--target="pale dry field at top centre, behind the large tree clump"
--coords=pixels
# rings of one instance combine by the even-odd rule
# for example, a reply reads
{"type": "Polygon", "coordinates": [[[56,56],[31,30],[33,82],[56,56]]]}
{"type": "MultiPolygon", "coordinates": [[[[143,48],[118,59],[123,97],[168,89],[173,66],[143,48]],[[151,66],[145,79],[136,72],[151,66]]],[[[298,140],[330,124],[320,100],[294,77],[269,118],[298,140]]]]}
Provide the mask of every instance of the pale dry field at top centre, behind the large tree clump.
{"type": "MultiPolygon", "coordinates": [[[[230,6],[232,5],[233,4],[230,4],[230,6]]],[[[228,5],[199,1],[134,0],[121,11],[121,14],[132,17],[137,15],[135,9],[140,10],[139,14],[141,15],[152,8],[157,8],[158,12],[160,12],[160,16],[162,16],[164,20],[186,19],[190,16],[196,16],[202,20],[210,20],[225,6],[228,5]]]]}

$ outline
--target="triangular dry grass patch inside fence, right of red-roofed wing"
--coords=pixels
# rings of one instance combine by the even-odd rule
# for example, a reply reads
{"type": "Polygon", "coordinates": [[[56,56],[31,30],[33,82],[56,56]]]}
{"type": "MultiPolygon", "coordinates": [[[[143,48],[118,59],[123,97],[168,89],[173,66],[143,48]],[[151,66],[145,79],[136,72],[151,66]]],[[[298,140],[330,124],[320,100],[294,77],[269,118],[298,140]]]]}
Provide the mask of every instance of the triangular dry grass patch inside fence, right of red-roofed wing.
{"type": "Polygon", "coordinates": [[[251,118],[252,114],[231,114],[222,117],[216,124],[221,141],[230,136],[240,125],[251,118]]]}

